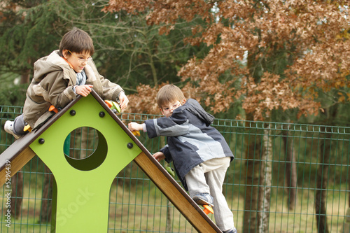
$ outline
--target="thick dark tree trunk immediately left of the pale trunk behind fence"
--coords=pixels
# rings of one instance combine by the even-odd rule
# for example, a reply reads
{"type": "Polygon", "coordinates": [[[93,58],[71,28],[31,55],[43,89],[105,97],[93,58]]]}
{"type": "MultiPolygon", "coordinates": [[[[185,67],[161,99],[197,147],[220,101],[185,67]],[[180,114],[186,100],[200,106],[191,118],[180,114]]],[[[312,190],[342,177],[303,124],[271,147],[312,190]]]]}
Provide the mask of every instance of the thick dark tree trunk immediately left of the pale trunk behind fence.
{"type": "MultiPolygon", "coordinates": [[[[251,129],[253,130],[253,129],[251,129]]],[[[257,232],[258,228],[258,192],[259,160],[261,138],[258,132],[247,132],[244,145],[246,150],[246,196],[244,199],[243,232],[257,232]]]]}

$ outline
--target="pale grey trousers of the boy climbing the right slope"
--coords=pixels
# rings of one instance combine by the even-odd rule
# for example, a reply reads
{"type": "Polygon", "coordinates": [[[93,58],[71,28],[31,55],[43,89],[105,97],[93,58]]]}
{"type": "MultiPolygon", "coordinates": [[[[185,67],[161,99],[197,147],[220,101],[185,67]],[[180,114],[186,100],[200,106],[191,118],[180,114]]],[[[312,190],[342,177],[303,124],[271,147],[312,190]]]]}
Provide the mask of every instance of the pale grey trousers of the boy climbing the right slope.
{"type": "Polygon", "coordinates": [[[201,192],[208,192],[214,197],[214,218],[222,231],[235,228],[233,213],[223,195],[223,181],[230,160],[230,157],[207,160],[191,169],[185,176],[190,197],[201,192]]]}

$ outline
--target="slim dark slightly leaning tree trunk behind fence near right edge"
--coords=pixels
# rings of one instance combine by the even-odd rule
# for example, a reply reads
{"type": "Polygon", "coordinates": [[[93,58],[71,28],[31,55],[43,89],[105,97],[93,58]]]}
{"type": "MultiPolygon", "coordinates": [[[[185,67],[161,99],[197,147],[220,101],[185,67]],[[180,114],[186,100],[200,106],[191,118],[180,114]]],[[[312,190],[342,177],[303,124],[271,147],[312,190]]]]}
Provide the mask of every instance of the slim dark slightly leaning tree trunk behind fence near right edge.
{"type": "MultiPolygon", "coordinates": [[[[321,127],[321,132],[325,132],[325,127],[321,127]]],[[[325,133],[323,141],[320,143],[319,166],[317,169],[315,213],[318,233],[328,233],[328,224],[326,216],[326,194],[328,185],[328,169],[330,159],[330,133],[325,133]]]]}

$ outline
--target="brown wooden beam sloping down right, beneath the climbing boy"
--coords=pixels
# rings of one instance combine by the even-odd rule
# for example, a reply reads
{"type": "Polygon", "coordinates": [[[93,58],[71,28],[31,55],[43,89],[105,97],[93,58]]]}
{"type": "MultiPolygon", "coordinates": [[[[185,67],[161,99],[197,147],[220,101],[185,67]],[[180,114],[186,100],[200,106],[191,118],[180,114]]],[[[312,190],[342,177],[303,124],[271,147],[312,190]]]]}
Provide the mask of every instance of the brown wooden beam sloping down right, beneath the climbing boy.
{"type": "MultiPolygon", "coordinates": [[[[134,162],[147,174],[147,176],[157,185],[162,193],[167,196],[170,202],[182,213],[198,232],[221,232],[221,230],[211,221],[209,216],[193,201],[192,198],[176,183],[174,178],[167,171],[155,163],[158,161],[150,158],[141,152],[134,162]],[[154,161],[153,161],[154,160],[154,161]]],[[[159,163],[158,163],[159,164],[159,163]]]]}

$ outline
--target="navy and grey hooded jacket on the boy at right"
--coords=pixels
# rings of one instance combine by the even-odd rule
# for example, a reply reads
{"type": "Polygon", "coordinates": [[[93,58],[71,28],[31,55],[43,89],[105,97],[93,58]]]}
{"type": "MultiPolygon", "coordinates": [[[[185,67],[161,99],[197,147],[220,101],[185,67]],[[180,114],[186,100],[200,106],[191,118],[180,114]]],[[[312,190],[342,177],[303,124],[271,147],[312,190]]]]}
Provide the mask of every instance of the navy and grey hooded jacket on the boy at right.
{"type": "Polygon", "coordinates": [[[210,126],[213,120],[214,116],[204,111],[200,103],[188,99],[169,118],[145,121],[149,138],[167,136],[168,144],[160,151],[165,154],[167,162],[174,162],[186,190],[185,176],[190,169],[214,158],[234,158],[224,137],[210,126]]]}

